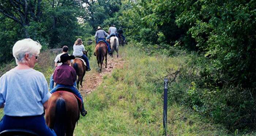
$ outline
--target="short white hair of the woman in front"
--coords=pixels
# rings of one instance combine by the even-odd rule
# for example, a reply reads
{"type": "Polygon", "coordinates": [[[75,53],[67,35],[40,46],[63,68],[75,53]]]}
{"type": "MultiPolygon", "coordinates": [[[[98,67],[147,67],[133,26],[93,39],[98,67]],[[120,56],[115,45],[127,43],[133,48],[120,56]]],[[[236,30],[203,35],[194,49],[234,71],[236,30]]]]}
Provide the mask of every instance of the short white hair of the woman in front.
{"type": "Polygon", "coordinates": [[[29,58],[31,58],[33,54],[38,55],[41,48],[42,46],[39,42],[33,41],[33,39],[30,38],[17,41],[12,48],[12,54],[16,64],[25,63],[24,56],[26,53],[29,54],[29,58]]]}

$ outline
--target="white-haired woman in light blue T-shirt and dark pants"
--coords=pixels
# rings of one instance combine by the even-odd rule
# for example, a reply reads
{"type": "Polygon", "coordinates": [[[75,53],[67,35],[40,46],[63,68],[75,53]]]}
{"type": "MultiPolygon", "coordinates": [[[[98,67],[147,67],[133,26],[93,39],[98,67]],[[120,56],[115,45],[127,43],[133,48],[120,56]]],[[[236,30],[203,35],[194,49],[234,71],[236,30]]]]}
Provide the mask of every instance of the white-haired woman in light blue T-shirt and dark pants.
{"type": "Polygon", "coordinates": [[[17,41],[12,54],[17,66],[0,78],[0,106],[4,117],[0,131],[28,129],[40,136],[56,136],[44,119],[51,93],[41,72],[34,70],[41,45],[32,39],[17,41]]]}

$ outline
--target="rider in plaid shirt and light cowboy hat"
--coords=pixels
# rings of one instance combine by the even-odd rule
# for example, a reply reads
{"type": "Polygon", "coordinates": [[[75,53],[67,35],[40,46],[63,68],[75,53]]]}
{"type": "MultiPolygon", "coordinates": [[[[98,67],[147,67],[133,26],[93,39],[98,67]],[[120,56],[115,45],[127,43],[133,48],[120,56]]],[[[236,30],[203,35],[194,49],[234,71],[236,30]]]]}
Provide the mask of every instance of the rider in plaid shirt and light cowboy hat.
{"type": "MultiPolygon", "coordinates": [[[[110,46],[109,46],[109,43],[106,41],[105,37],[107,37],[108,34],[101,29],[100,26],[98,26],[98,29],[95,33],[95,41],[96,41],[96,44],[98,44],[99,41],[104,41],[105,44],[108,46],[108,53],[109,55],[112,54],[111,50],[110,50],[110,46]]],[[[95,54],[95,53],[94,53],[95,54]]]]}

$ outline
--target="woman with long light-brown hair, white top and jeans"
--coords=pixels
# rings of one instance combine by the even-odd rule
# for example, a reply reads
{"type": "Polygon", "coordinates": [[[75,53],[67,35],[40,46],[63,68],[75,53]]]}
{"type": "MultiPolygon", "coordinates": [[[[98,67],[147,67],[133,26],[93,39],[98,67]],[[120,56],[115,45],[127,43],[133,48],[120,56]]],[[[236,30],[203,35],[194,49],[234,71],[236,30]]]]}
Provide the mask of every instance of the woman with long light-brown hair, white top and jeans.
{"type": "Polygon", "coordinates": [[[89,59],[86,57],[86,55],[83,54],[83,52],[85,51],[84,45],[83,45],[83,41],[81,38],[78,38],[73,46],[73,55],[74,56],[81,56],[83,58],[83,60],[86,63],[86,71],[90,71],[90,64],[89,64],[89,59]]]}

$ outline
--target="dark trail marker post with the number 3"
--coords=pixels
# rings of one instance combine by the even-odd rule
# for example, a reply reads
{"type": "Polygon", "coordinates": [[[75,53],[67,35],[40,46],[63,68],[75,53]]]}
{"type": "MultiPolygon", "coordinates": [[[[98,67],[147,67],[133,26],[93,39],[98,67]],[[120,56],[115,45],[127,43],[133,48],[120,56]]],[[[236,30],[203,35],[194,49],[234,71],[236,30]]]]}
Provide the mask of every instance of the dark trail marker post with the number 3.
{"type": "Polygon", "coordinates": [[[167,135],[167,93],[168,93],[168,79],[164,79],[163,85],[163,129],[165,136],[167,135]]]}

